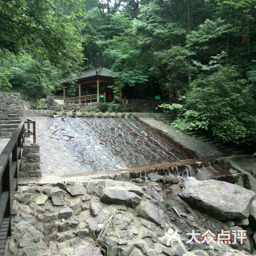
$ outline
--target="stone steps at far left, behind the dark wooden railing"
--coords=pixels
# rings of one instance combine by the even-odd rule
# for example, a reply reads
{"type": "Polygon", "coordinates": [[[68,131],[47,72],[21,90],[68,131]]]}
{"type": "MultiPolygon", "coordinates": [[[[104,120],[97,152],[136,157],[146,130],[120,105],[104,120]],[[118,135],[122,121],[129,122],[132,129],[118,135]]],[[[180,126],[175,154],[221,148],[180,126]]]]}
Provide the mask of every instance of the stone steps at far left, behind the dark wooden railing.
{"type": "Polygon", "coordinates": [[[0,109],[0,138],[10,138],[20,124],[20,109],[0,109]]]}

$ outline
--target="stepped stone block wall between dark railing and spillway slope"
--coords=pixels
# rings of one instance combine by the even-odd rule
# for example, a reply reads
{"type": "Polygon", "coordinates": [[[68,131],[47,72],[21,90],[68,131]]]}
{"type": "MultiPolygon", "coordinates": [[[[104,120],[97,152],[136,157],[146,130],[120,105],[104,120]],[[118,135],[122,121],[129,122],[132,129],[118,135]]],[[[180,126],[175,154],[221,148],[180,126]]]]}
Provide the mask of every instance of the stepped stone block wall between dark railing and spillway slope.
{"type": "Polygon", "coordinates": [[[39,145],[24,145],[19,177],[41,177],[39,145]]]}

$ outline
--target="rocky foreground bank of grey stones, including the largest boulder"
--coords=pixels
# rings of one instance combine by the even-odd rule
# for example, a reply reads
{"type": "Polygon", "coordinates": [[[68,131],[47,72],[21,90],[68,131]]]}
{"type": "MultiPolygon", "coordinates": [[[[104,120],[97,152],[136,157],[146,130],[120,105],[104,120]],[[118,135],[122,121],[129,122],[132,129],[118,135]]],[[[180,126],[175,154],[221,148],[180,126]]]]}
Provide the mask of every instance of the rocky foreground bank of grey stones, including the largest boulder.
{"type": "Polygon", "coordinates": [[[215,180],[166,180],[156,173],[121,179],[87,176],[55,183],[20,181],[5,256],[215,256],[256,252],[254,192],[215,180]],[[165,233],[170,228],[177,230],[181,241],[171,240],[167,246],[165,233]],[[192,230],[203,234],[207,230],[221,233],[222,229],[246,229],[248,236],[243,245],[186,243],[192,230]]]}

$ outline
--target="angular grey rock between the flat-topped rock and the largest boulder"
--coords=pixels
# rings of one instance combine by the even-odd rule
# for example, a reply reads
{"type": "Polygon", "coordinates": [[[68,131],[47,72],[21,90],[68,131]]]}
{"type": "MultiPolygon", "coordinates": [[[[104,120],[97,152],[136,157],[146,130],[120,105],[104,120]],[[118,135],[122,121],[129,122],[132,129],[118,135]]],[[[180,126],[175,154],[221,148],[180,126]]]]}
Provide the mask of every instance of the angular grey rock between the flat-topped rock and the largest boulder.
{"type": "Polygon", "coordinates": [[[156,208],[151,203],[144,203],[138,210],[137,216],[161,225],[163,210],[156,208]]]}

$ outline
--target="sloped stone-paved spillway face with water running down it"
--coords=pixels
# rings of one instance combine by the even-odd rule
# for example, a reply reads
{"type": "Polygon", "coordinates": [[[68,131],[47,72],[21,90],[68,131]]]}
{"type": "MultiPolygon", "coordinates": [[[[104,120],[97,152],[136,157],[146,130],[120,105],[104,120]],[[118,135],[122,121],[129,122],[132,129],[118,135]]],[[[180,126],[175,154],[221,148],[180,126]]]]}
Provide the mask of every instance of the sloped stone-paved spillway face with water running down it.
{"type": "Polygon", "coordinates": [[[65,174],[98,172],[196,157],[169,136],[132,117],[57,117],[45,126],[48,128],[39,122],[42,163],[48,162],[50,166],[53,155],[59,154],[55,171],[45,166],[46,173],[57,174],[63,168],[65,174]],[[52,142],[50,148],[45,140],[48,145],[52,142]],[[79,168],[75,162],[80,164],[79,168]]]}

